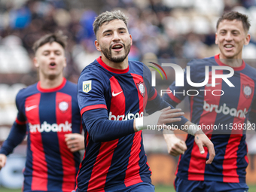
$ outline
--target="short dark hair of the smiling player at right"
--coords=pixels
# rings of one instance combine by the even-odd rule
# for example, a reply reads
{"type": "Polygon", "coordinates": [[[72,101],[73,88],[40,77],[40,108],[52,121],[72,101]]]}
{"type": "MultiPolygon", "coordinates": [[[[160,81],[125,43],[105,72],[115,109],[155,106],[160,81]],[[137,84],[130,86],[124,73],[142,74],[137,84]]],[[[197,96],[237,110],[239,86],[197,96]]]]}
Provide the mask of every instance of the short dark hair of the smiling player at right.
{"type": "Polygon", "coordinates": [[[248,16],[245,14],[240,14],[237,11],[230,11],[222,14],[222,16],[218,19],[216,29],[218,29],[218,25],[221,23],[223,20],[240,20],[242,21],[242,26],[245,32],[248,32],[250,29],[250,22],[248,21],[248,16]]]}

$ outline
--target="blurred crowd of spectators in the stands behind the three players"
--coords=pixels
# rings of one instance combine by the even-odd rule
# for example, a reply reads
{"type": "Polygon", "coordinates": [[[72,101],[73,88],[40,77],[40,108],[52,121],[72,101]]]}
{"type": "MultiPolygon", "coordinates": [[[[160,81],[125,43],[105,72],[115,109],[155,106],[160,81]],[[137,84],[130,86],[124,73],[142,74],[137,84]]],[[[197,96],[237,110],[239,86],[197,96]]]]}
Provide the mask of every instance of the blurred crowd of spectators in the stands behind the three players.
{"type": "Polygon", "coordinates": [[[0,83],[37,81],[32,44],[41,35],[62,30],[69,37],[66,77],[76,82],[81,70],[99,56],[93,20],[102,11],[120,9],[130,17],[130,59],[203,58],[218,53],[215,24],[223,11],[236,10],[251,20],[251,44],[244,58],[254,58],[255,0],[0,0],[0,83]],[[87,2],[87,1],[85,1],[87,2]],[[89,1],[88,1],[89,2],[89,1]],[[94,3],[92,3],[94,2],[94,3]],[[10,74],[23,75],[10,75],[10,74]],[[24,76],[24,74],[27,74],[24,76]]]}

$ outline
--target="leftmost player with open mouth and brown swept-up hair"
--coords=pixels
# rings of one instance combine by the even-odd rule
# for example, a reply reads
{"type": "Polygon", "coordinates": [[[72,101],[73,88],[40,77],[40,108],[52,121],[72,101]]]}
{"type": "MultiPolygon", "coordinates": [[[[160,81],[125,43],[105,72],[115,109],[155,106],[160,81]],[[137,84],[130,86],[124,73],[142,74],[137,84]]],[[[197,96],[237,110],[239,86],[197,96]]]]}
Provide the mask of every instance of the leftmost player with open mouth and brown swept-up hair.
{"type": "Polygon", "coordinates": [[[84,136],[77,87],[63,78],[65,47],[66,36],[61,32],[35,42],[34,64],[40,81],[17,94],[17,119],[0,150],[1,169],[6,156],[28,134],[24,192],[75,189],[84,136]]]}

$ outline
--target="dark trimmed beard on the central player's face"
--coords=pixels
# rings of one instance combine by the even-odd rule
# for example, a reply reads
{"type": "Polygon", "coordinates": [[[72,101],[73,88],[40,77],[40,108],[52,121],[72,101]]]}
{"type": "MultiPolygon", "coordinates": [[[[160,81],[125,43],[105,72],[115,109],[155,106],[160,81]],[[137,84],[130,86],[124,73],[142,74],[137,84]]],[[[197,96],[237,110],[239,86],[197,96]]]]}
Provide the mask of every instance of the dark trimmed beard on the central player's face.
{"type": "MultiPolygon", "coordinates": [[[[123,43],[121,43],[123,44],[123,43]]],[[[122,56],[112,56],[112,45],[109,46],[108,48],[101,47],[102,53],[104,56],[108,59],[111,60],[112,62],[123,62],[124,59],[126,59],[126,56],[128,56],[130,49],[131,49],[131,44],[128,44],[127,46],[123,44],[123,49],[124,49],[124,54],[122,56]]]]}

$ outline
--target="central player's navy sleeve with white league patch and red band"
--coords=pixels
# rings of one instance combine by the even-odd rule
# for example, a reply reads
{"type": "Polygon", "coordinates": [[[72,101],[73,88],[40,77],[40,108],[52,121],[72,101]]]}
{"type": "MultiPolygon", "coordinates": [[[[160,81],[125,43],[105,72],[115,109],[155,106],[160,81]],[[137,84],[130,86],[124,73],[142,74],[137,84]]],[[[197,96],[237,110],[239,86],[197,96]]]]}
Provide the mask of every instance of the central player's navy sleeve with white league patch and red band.
{"type": "Polygon", "coordinates": [[[84,128],[94,142],[108,142],[134,133],[134,120],[108,120],[105,102],[108,86],[108,81],[99,72],[90,69],[85,69],[78,80],[78,105],[84,128]]]}

